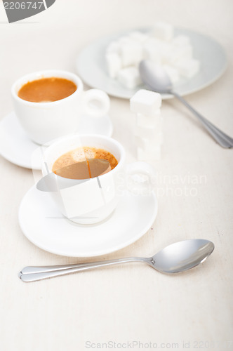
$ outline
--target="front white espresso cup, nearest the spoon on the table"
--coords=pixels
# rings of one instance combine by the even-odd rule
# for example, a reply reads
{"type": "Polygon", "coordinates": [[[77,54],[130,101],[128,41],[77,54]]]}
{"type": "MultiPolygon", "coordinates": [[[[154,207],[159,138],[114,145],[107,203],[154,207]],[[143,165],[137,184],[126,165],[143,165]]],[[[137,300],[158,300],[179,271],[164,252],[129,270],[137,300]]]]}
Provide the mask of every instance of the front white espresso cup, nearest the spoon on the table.
{"type": "MultiPolygon", "coordinates": [[[[48,179],[48,187],[42,191],[51,194],[55,205],[65,218],[85,225],[98,223],[111,215],[119,198],[125,193],[127,175],[135,176],[133,187],[141,187],[140,180],[138,183],[140,176],[147,177],[146,186],[149,187],[150,179],[154,176],[154,169],[145,162],[135,162],[126,166],[124,147],[113,138],[96,134],[67,135],[56,140],[46,148],[41,169],[43,179],[48,179]],[[81,183],[54,174],[52,172],[54,162],[62,154],[77,147],[104,149],[116,157],[118,164],[111,171],[81,183]]],[[[39,189],[38,185],[37,188],[39,189]]]]}

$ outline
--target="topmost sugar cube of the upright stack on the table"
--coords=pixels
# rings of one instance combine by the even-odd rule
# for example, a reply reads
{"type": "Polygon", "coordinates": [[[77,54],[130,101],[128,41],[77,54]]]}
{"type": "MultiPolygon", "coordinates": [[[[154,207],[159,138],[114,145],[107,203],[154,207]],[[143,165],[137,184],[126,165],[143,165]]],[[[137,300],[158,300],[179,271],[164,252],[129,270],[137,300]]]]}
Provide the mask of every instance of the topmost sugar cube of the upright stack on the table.
{"type": "Polygon", "coordinates": [[[161,107],[161,95],[154,91],[140,89],[130,100],[131,111],[153,117],[161,107]]]}

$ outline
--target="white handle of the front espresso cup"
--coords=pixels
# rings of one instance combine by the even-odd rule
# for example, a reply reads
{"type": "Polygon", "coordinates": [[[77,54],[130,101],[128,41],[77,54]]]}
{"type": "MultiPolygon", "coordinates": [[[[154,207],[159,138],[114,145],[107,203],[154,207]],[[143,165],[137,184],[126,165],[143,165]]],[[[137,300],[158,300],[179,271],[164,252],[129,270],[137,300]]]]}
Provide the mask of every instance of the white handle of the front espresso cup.
{"type": "Polygon", "coordinates": [[[133,194],[148,194],[153,191],[152,177],[156,177],[156,171],[147,162],[138,161],[128,164],[126,176],[126,187],[133,194]]]}

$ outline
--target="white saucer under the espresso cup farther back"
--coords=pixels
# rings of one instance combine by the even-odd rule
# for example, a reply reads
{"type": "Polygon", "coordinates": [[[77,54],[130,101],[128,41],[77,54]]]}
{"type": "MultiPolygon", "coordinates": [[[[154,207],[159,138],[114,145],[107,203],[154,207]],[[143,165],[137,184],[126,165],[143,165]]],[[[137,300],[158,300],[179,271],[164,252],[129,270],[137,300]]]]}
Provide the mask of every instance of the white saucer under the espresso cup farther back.
{"type": "MultiPolygon", "coordinates": [[[[93,133],[112,136],[112,121],[108,116],[95,118],[84,116],[81,119],[79,133],[93,133]]],[[[41,169],[41,152],[39,145],[29,139],[27,133],[15,116],[14,112],[8,114],[0,122],[0,154],[13,164],[25,168],[41,169]],[[32,154],[33,166],[32,166],[32,154]]]]}

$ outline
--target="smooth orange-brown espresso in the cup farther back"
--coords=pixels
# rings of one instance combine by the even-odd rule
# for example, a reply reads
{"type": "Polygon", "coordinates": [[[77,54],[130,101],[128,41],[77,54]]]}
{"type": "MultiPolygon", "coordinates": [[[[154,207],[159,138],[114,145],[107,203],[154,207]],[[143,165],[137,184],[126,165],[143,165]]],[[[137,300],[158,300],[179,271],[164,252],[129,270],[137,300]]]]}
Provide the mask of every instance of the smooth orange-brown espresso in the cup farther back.
{"type": "Polygon", "coordinates": [[[76,84],[64,78],[41,78],[29,81],[20,88],[18,97],[30,102],[53,102],[72,95],[76,84]]]}

